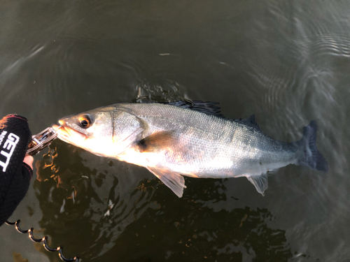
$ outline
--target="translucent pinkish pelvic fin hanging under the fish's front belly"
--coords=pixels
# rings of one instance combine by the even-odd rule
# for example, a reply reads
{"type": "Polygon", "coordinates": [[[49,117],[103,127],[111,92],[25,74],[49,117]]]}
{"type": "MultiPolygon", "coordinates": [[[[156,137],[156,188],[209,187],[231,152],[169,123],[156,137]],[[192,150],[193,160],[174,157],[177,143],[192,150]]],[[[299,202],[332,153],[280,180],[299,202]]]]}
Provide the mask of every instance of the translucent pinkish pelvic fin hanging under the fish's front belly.
{"type": "Polygon", "coordinates": [[[185,179],[182,175],[179,175],[178,173],[172,173],[169,170],[164,170],[161,168],[154,168],[154,167],[146,167],[153,175],[158,177],[160,181],[162,181],[169,189],[172,189],[172,191],[176,194],[176,196],[183,195],[183,189],[186,188],[185,186],[185,179]]]}

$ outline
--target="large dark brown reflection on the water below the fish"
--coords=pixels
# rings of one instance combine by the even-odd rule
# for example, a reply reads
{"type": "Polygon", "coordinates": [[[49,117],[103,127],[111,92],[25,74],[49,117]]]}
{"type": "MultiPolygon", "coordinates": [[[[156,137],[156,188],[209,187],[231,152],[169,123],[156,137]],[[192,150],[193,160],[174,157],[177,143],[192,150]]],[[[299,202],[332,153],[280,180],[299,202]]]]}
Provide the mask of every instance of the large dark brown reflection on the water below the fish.
{"type": "MultiPolygon", "coordinates": [[[[120,184],[118,175],[106,166],[102,172],[88,168],[82,153],[56,140],[36,163],[34,187],[43,210],[39,224],[43,234],[55,236],[50,245],[63,245],[66,257],[79,254],[92,261],[111,257],[116,261],[287,261],[293,257],[286,232],[274,228],[274,216],[266,208],[214,212],[205,206],[206,201],[227,199],[220,180],[205,180],[200,189],[189,187],[183,198],[177,198],[164,185],[158,187],[155,178],[120,184]]],[[[110,160],[108,166],[114,168],[115,163],[110,160]]],[[[188,180],[192,184],[193,179],[188,180]]],[[[54,254],[48,256],[55,259],[54,254]]]]}

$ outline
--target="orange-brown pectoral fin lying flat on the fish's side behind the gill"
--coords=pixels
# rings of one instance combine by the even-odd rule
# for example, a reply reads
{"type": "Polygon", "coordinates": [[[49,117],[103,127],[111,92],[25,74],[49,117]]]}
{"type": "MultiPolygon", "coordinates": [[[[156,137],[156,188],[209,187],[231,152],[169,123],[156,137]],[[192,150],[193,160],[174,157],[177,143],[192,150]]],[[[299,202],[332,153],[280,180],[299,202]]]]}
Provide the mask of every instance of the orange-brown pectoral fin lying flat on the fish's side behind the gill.
{"type": "Polygon", "coordinates": [[[174,132],[160,131],[143,138],[137,143],[139,152],[157,152],[174,146],[174,132]]]}

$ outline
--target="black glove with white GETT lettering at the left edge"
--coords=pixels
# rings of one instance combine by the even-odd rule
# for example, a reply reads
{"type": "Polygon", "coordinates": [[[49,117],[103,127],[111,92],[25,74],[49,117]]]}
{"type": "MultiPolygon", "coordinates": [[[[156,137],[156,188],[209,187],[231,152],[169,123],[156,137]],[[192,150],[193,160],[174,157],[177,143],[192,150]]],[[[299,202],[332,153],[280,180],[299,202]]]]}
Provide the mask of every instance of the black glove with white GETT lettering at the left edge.
{"type": "Polygon", "coordinates": [[[27,193],[33,170],[23,163],[31,132],[25,117],[0,120],[0,226],[27,193]]]}

